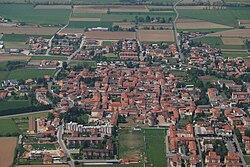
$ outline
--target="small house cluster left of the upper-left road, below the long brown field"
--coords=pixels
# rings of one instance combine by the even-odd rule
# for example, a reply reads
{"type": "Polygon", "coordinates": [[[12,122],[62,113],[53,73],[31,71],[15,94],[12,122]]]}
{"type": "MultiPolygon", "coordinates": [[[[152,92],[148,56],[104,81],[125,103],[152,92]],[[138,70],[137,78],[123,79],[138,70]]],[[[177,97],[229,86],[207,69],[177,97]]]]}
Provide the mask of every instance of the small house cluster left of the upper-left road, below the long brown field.
{"type": "Polygon", "coordinates": [[[42,37],[29,37],[27,43],[29,45],[30,53],[32,54],[45,54],[48,49],[49,39],[42,37]]]}

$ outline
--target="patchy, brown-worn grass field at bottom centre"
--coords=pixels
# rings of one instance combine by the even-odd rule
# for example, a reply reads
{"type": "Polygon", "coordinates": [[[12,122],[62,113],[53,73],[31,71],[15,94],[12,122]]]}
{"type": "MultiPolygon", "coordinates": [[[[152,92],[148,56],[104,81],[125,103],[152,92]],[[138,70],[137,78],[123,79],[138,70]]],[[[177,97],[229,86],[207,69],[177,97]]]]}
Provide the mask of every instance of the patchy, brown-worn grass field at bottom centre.
{"type": "Polygon", "coordinates": [[[131,129],[119,130],[119,158],[139,158],[145,152],[143,130],[134,131],[131,129]]]}

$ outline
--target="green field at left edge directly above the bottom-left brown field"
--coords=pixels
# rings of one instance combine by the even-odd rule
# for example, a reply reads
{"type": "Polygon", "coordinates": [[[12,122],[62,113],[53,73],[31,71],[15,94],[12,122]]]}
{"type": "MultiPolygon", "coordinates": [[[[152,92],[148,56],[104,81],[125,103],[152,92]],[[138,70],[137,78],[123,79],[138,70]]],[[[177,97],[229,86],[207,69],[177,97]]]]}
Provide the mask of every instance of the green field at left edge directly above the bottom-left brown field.
{"type": "Polygon", "coordinates": [[[0,119],[0,134],[19,132],[15,122],[12,119],[0,119]]]}

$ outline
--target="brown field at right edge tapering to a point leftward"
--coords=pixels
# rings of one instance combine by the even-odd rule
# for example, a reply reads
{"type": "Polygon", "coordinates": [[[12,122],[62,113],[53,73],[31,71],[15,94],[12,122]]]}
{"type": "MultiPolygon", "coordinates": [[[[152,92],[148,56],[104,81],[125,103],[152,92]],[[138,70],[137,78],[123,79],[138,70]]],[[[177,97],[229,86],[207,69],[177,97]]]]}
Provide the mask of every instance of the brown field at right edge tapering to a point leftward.
{"type": "Polygon", "coordinates": [[[210,34],[211,36],[250,38],[250,29],[233,29],[210,34]]]}

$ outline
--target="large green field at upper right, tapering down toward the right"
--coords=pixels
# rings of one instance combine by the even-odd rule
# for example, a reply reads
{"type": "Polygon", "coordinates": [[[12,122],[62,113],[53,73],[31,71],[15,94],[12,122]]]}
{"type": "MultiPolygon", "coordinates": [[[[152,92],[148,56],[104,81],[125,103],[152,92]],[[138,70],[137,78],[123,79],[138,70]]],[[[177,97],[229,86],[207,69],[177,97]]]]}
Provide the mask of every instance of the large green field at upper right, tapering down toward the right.
{"type": "Polygon", "coordinates": [[[249,20],[250,7],[227,7],[225,10],[178,10],[180,18],[211,21],[237,27],[237,19],[249,20]]]}

